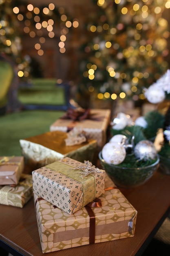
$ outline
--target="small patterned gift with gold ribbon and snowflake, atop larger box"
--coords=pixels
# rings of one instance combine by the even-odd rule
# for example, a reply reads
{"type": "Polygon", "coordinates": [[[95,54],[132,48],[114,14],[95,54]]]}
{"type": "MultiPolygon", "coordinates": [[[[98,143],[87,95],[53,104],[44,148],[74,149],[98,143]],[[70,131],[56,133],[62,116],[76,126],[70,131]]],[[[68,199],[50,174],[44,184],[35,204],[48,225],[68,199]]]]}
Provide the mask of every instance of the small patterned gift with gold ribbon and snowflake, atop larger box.
{"type": "Polygon", "coordinates": [[[105,171],[89,161],[83,164],[65,157],[33,171],[32,175],[33,193],[69,214],[104,193],[105,171]]]}

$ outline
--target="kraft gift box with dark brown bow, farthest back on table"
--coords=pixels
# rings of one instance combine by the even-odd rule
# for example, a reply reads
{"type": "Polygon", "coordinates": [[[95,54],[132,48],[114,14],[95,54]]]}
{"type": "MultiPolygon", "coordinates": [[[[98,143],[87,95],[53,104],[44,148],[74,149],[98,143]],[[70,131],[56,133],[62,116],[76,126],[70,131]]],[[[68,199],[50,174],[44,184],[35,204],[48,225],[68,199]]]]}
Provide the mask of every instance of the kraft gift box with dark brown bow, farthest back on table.
{"type": "Polygon", "coordinates": [[[88,139],[97,141],[100,151],[106,143],[106,133],[110,125],[110,109],[68,109],[66,115],[50,126],[50,131],[69,132],[75,127],[81,128],[88,139]]]}

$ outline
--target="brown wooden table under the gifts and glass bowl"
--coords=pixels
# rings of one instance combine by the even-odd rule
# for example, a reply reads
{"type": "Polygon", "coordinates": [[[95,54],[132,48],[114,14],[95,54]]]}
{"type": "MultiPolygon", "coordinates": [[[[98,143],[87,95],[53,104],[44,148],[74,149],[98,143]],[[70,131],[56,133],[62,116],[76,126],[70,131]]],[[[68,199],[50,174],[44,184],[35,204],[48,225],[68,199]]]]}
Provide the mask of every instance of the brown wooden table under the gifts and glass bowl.
{"type": "MultiPolygon", "coordinates": [[[[135,189],[120,190],[138,211],[134,237],[64,249],[46,255],[141,255],[170,212],[170,175],[157,171],[146,184],[135,189]]],[[[45,255],[41,250],[33,199],[22,209],[0,205],[0,246],[16,256],[45,255]]]]}

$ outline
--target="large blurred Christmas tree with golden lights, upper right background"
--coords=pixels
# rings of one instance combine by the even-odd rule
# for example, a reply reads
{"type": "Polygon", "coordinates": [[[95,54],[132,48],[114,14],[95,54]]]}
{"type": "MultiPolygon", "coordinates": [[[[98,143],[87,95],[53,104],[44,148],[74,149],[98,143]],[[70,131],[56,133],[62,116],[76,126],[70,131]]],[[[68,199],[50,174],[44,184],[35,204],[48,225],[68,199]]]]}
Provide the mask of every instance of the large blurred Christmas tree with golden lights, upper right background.
{"type": "Polygon", "coordinates": [[[78,97],[145,99],[143,88],[168,68],[166,0],[93,0],[80,51],[78,97]]]}

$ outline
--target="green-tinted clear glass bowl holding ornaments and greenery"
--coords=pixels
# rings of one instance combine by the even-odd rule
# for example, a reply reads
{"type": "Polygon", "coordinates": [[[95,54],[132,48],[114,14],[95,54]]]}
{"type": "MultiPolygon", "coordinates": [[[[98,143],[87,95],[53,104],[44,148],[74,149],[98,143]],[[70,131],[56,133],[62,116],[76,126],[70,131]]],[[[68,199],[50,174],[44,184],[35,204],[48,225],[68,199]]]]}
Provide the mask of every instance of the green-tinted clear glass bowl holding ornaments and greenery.
{"type": "Polygon", "coordinates": [[[134,188],[147,182],[159,166],[159,155],[154,164],[144,167],[120,167],[119,165],[108,164],[102,157],[102,151],[99,152],[99,160],[102,168],[113,180],[115,185],[122,188],[134,188]]]}

